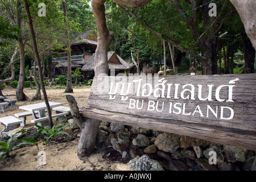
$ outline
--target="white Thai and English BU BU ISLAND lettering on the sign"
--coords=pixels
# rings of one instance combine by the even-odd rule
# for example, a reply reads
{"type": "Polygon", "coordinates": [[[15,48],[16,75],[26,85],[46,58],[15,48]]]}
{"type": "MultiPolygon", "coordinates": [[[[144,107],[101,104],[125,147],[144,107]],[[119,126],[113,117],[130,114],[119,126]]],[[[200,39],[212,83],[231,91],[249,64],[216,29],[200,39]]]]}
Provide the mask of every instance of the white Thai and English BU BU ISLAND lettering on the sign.
{"type": "MultiPolygon", "coordinates": [[[[162,112],[168,107],[168,114],[182,114],[194,116],[199,114],[200,117],[209,117],[210,114],[219,119],[230,120],[234,117],[234,110],[229,106],[210,106],[211,101],[229,102],[233,101],[233,88],[235,82],[239,80],[236,78],[230,80],[226,85],[213,85],[208,84],[203,86],[201,84],[172,84],[162,78],[158,80],[155,86],[152,83],[144,81],[142,78],[134,79],[132,82],[114,82],[110,83],[109,99],[115,99],[117,96],[118,88],[121,87],[121,101],[128,100],[128,94],[133,93],[135,97],[139,99],[130,98],[128,109],[146,109],[146,111],[162,112]],[[135,84],[135,85],[134,85],[135,84]],[[203,89],[207,87],[207,97],[203,96],[203,89]],[[131,91],[132,90],[132,91],[131,91]],[[197,91],[197,92],[196,92],[197,91]],[[226,98],[222,98],[221,94],[225,94],[226,98]],[[143,98],[148,98],[148,102],[144,102],[143,98]],[[162,98],[161,101],[156,101],[158,98],[162,98]],[[214,100],[215,99],[215,100],[214,100]],[[172,101],[168,101],[172,100],[172,101]],[[177,102],[174,102],[177,100],[177,102]],[[203,113],[199,104],[195,106],[193,102],[182,103],[182,100],[194,100],[194,101],[209,101],[207,105],[204,105],[205,113],[203,113]],[[193,105],[193,106],[192,106],[193,105]],[[193,108],[192,108],[193,107],[193,108]]],[[[151,80],[152,81],[152,80],[151,80]]]]}

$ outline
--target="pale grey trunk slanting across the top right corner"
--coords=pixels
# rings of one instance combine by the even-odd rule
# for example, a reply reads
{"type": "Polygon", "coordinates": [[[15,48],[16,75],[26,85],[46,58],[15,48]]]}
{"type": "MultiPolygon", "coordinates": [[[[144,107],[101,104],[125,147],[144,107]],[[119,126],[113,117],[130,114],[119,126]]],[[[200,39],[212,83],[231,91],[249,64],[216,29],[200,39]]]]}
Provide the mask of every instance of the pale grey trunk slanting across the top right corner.
{"type": "Polygon", "coordinates": [[[245,26],[247,36],[251,40],[251,44],[256,49],[256,1],[255,0],[230,0],[245,26]]]}

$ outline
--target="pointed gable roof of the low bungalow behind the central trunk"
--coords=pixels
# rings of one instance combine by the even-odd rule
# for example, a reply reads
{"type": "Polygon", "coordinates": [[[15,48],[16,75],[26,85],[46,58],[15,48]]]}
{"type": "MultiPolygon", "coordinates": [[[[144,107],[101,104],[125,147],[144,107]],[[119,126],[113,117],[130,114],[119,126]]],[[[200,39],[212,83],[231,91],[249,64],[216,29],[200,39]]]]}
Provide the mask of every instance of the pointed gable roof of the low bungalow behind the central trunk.
{"type": "MultiPolygon", "coordinates": [[[[108,52],[108,61],[110,61],[110,58],[114,56],[114,51],[108,52]]],[[[127,70],[134,66],[134,64],[128,64],[125,60],[123,60],[120,56],[116,55],[118,58],[118,62],[113,64],[112,62],[109,63],[109,69],[123,69],[127,70]]],[[[90,59],[86,61],[84,66],[82,67],[81,71],[93,71],[94,70],[94,57],[95,53],[92,54],[90,59]]]]}

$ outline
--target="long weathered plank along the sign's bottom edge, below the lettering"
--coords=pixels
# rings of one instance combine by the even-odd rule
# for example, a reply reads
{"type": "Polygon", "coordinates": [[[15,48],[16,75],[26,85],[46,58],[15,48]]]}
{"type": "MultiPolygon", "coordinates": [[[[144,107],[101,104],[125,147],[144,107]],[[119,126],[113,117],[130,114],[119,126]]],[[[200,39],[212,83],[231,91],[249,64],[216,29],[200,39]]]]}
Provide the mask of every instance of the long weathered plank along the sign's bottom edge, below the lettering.
{"type": "Polygon", "coordinates": [[[143,127],[145,129],[165,131],[168,133],[187,135],[212,142],[230,144],[249,150],[256,150],[256,132],[245,130],[232,130],[225,127],[208,126],[200,123],[189,123],[164,118],[144,117],[143,115],[132,115],[115,113],[92,107],[81,106],[79,108],[83,117],[120,123],[123,125],[143,127]]]}

